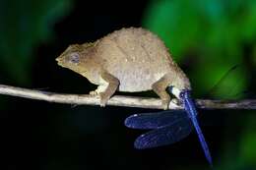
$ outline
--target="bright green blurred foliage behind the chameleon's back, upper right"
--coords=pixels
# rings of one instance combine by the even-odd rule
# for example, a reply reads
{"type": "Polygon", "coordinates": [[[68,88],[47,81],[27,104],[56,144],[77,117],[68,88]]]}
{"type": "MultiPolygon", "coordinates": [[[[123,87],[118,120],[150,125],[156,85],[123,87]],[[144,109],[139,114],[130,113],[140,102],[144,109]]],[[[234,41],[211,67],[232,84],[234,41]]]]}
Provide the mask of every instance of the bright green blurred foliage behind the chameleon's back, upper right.
{"type": "MultiPolygon", "coordinates": [[[[188,75],[196,93],[242,64],[243,46],[256,40],[254,0],[155,0],[144,19],[144,26],[160,35],[177,62],[194,63],[188,75]]],[[[246,88],[246,68],[232,76],[226,84],[236,86],[234,93],[246,88]]],[[[220,88],[221,96],[229,94],[230,88],[220,88]]]]}

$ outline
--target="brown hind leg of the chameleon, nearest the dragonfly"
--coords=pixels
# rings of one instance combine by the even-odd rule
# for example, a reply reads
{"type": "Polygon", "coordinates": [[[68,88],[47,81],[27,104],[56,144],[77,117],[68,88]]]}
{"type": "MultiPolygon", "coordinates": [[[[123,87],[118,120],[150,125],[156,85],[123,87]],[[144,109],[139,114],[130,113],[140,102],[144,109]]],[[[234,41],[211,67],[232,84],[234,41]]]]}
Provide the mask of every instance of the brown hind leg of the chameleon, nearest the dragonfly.
{"type": "Polygon", "coordinates": [[[170,81],[163,76],[158,82],[152,85],[152,89],[160,96],[161,105],[164,110],[168,108],[170,96],[166,92],[166,87],[169,85],[170,81]]]}

